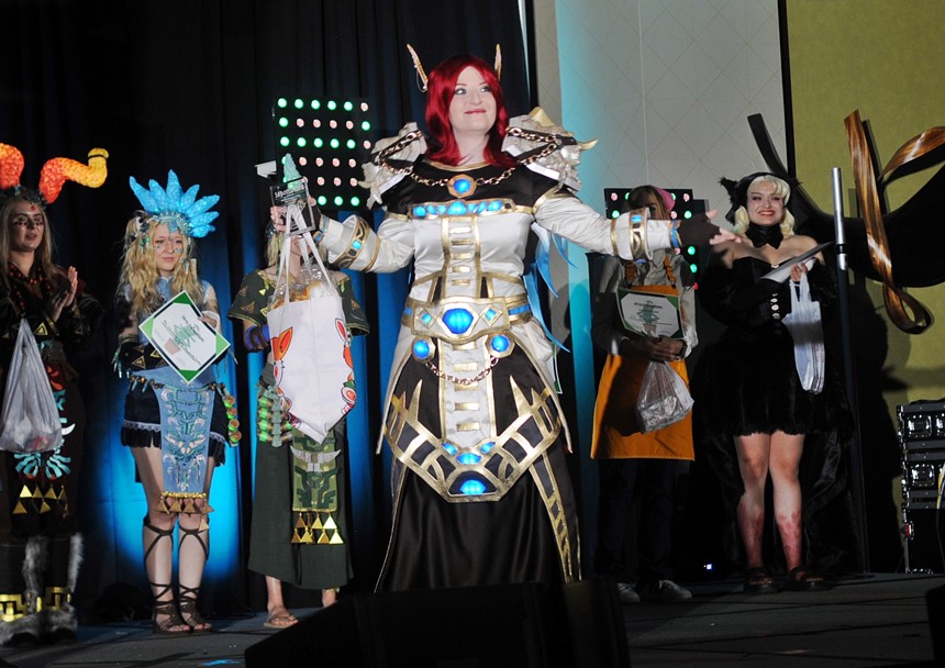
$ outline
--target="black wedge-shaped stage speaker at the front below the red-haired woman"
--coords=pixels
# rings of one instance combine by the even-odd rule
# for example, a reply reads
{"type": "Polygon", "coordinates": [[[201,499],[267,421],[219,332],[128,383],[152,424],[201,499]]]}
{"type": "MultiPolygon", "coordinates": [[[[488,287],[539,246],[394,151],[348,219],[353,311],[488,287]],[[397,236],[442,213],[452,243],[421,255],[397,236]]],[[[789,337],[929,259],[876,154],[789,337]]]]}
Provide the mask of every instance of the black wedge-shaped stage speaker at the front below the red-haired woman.
{"type": "Polygon", "coordinates": [[[622,668],[613,582],[355,593],[248,647],[247,668],[622,668]]]}

